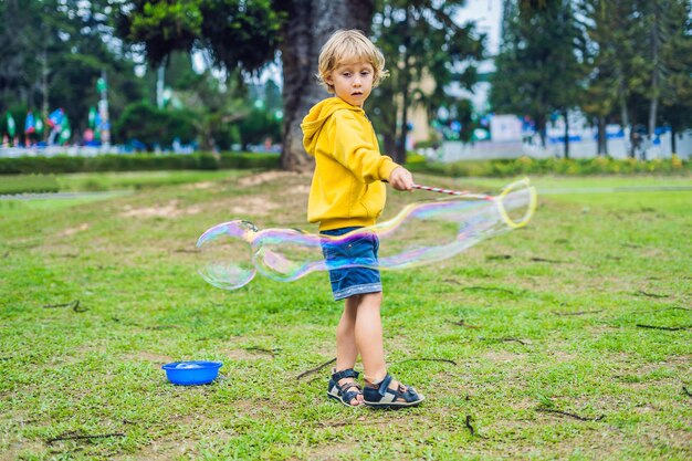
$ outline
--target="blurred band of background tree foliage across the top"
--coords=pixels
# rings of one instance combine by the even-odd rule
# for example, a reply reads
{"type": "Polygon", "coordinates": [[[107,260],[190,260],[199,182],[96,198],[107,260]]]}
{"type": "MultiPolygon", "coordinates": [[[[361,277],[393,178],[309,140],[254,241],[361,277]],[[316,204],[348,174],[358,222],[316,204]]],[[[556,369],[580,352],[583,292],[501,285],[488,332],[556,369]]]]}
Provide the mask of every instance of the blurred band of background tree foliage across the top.
{"type": "MultiPolygon", "coordinates": [[[[21,137],[29,111],[45,118],[62,107],[78,143],[105,73],[115,143],[202,150],[279,144],[287,133],[282,125],[300,123],[284,114],[314,97],[302,93],[313,82],[279,75],[287,29],[316,34],[290,19],[301,9],[329,13],[335,3],[343,2],[4,0],[0,113],[14,116],[21,137]]],[[[463,0],[357,3],[371,12],[367,32],[391,72],[368,112],[399,161],[408,107],[423,108],[430,121],[451,114],[459,137],[472,138],[483,114],[450,88],[472,90],[485,59],[494,59],[495,71],[484,76],[492,85],[484,111],[526,115],[542,134],[549,117],[574,109],[604,129],[692,127],[690,0],[505,0],[495,56],[473,23],[455,20],[463,0]]],[[[346,8],[355,10],[363,8],[346,8]]],[[[306,46],[298,61],[316,65],[319,45],[306,46]]]]}

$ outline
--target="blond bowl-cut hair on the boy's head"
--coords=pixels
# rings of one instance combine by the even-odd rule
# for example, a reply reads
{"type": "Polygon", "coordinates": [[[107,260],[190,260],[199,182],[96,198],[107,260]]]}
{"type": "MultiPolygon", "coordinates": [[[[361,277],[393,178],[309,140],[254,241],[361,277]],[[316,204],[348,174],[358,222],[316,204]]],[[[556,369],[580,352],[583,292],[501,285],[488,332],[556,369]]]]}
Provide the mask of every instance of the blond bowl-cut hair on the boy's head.
{"type": "Polygon", "coordinates": [[[338,30],[319,51],[317,62],[317,80],[329,93],[334,93],[334,85],[327,83],[327,78],[340,63],[359,60],[367,62],[374,69],[373,86],[377,86],[382,78],[389,75],[385,69],[385,56],[375,44],[359,30],[338,30]]]}

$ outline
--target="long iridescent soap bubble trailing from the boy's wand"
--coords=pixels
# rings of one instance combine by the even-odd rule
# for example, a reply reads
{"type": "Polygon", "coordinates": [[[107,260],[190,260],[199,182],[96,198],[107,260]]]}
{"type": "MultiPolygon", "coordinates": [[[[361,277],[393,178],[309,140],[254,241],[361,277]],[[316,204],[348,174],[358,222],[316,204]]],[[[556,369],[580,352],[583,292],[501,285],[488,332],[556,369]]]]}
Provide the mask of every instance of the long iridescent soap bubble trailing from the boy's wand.
{"type": "Polygon", "coordinates": [[[258,230],[248,221],[224,222],[200,237],[199,273],[210,284],[234,290],[260,272],[277,281],[293,281],[311,272],[349,266],[398,270],[438,262],[478,242],[525,224],[535,207],[528,181],[499,197],[464,197],[417,202],[394,219],[342,237],[305,233],[294,229],[258,230]],[[512,224],[512,226],[511,226],[512,224]],[[380,240],[377,265],[354,259],[329,261],[323,245],[349,244],[367,233],[380,240]]]}

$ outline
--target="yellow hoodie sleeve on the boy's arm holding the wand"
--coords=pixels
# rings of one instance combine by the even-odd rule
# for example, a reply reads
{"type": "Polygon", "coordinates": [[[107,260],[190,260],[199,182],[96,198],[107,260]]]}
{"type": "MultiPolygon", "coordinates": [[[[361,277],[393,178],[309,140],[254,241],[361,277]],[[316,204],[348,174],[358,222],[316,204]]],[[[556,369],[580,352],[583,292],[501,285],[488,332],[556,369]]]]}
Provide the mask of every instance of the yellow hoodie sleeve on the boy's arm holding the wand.
{"type": "Polygon", "coordinates": [[[337,111],[333,116],[332,153],[336,161],[364,182],[388,179],[399,165],[390,157],[381,155],[377,146],[373,145],[368,133],[364,133],[358,116],[353,111],[337,111]]]}

